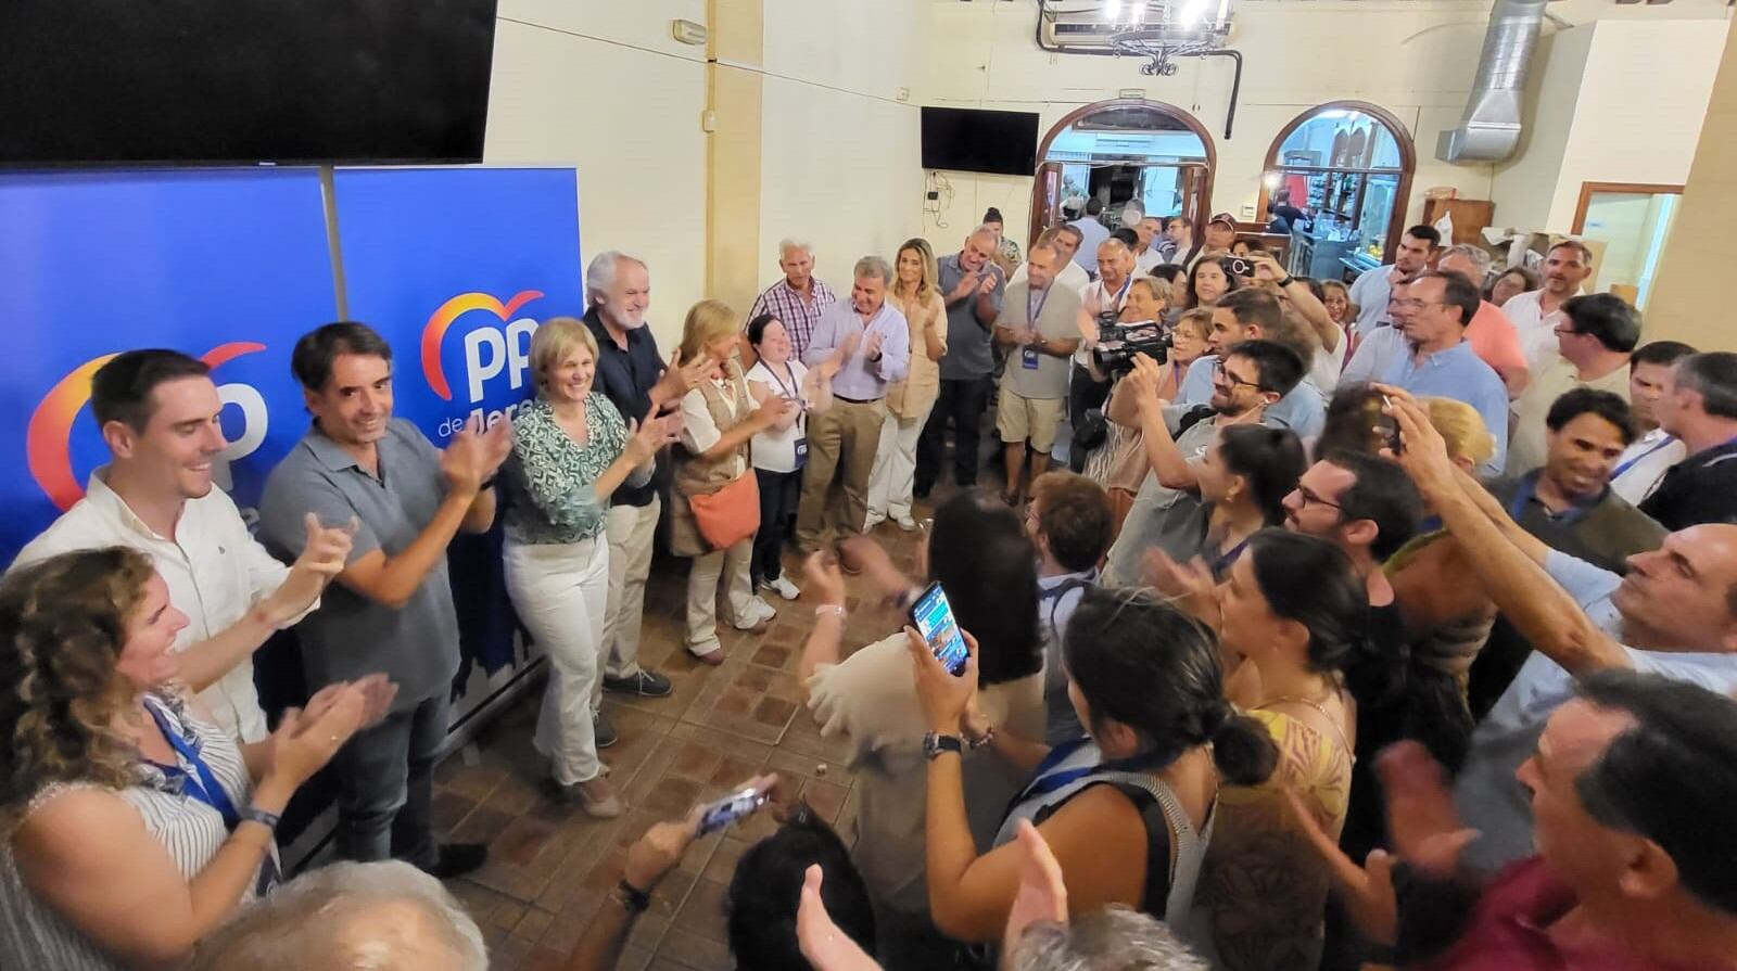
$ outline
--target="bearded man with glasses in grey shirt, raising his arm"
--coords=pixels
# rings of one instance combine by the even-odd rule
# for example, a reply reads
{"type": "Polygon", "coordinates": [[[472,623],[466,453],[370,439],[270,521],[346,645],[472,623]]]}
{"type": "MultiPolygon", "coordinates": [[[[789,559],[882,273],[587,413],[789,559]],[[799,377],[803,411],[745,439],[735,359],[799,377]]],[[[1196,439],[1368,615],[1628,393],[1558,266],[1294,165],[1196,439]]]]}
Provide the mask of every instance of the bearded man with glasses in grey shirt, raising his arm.
{"type": "Polygon", "coordinates": [[[1136,358],[1124,380],[1134,382],[1141,446],[1152,467],[1139,483],[1122,533],[1110,547],[1106,585],[1138,584],[1141,559],[1152,547],[1181,558],[1199,547],[1205,512],[1197,469],[1218,429],[1240,424],[1284,427],[1271,420],[1268,408],[1303,380],[1303,358],[1273,340],[1232,344],[1214,367],[1211,403],[1199,406],[1160,400],[1164,372],[1150,358],[1136,358]]]}

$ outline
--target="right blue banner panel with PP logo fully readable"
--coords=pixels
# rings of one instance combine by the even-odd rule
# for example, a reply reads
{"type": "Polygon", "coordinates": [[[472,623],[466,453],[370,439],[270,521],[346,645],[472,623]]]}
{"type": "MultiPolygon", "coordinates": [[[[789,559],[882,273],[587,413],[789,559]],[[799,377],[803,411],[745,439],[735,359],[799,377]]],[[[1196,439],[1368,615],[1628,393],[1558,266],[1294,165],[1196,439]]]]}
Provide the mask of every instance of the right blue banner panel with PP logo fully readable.
{"type": "Polygon", "coordinates": [[[349,314],[393,342],[394,408],[436,445],[535,389],[532,330],[584,313],[571,168],[335,174],[349,314]]]}

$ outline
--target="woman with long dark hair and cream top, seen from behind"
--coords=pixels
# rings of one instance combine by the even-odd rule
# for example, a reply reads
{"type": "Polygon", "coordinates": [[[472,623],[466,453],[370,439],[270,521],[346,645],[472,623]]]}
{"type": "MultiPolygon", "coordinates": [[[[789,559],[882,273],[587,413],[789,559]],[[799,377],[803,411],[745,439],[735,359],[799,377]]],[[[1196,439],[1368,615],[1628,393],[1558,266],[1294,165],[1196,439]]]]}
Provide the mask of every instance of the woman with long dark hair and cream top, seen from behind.
{"type": "MultiPolygon", "coordinates": [[[[926,591],[893,566],[874,540],[848,540],[863,573],[900,610],[926,591]]],[[[1044,655],[1037,624],[1037,551],[1020,514],[988,493],[959,493],[935,512],[933,535],[919,566],[940,584],[954,622],[981,636],[978,658],[981,709],[997,724],[1025,737],[1044,733],[1044,655]]],[[[929,921],[922,877],[924,721],[912,690],[910,651],[902,631],[839,660],[844,639],[844,577],[825,554],[808,559],[808,591],[818,594],[815,631],[802,650],[797,679],[808,709],[827,737],[855,745],[855,820],[844,839],[863,879],[884,908],[881,959],[888,968],[947,968],[957,943],[929,921]]],[[[1023,773],[988,752],[966,759],[969,827],[988,844],[1023,773]]]]}

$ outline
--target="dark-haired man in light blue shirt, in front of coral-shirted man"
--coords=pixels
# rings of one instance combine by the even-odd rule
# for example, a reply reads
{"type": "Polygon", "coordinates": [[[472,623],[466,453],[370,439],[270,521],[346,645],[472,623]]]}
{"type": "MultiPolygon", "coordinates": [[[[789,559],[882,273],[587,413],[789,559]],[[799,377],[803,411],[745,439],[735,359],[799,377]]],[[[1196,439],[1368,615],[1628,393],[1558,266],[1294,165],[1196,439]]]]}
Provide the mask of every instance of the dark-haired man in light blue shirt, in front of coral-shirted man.
{"type": "Polygon", "coordinates": [[[1466,323],[1483,295],[1459,273],[1428,271],[1412,280],[1400,302],[1407,304],[1403,334],[1410,353],[1386,361],[1369,379],[1419,398],[1452,398],[1476,408],[1483,427],[1496,436],[1496,455],[1480,472],[1499,474],[1508,460],[1508,386],[1466,342],[1466,323]]]}

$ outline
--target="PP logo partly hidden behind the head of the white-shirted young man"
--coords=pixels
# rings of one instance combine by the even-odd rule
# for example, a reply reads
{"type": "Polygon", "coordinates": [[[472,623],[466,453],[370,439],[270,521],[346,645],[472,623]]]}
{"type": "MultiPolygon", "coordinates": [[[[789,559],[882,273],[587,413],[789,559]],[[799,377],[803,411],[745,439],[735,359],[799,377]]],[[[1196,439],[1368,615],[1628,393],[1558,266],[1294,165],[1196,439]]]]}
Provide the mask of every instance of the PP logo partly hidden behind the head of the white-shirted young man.
{"type": "MultiPolygon", "coordinates": [[[[254,354],[264,349],[264,344],[238,340],[219,344],[200,360],[215,372],[241,354],[254,354]]],[[[49,389],[30,415],[30,429],[24,434],[30,474],[36,479],[36,486],[42,488],[43,495],[63,512],[85,495],[85,486],[80,485],[73,472],[73,419],[90,401],[90,377],[113,356],[90,358],[73,368],[71,373],[49,389]]],[[[233,485],[229,464],[252,455],[266,441],[271,419],[266,412],[264,396],[250,384],[219,384],[217,396],[222,398],[224,405],[241,408],[241,434],[234,436],[229,446],[219,452],[212,462],[212,481],[219,488],[228,490],[233,485]]]]}

